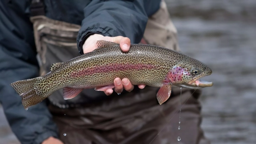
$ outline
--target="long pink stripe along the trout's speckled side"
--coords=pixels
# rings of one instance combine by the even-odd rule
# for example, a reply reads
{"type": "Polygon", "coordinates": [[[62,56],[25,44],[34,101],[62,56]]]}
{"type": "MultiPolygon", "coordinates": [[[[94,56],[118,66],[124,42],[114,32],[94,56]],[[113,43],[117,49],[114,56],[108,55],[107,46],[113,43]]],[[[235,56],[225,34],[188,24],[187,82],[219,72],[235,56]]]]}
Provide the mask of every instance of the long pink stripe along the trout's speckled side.
{"type": "Polygon", "coordinates": [[[94,66],[92,68],[80,69],[78,72],[74,71],[70,76],[80,77],[83,75],[93,75],[95,73],[109,73],[113,71],[127,71],[127,70],[143,70],[153,69],[156,66],[151,64],[108,64],[104,66],[94,66]]]}

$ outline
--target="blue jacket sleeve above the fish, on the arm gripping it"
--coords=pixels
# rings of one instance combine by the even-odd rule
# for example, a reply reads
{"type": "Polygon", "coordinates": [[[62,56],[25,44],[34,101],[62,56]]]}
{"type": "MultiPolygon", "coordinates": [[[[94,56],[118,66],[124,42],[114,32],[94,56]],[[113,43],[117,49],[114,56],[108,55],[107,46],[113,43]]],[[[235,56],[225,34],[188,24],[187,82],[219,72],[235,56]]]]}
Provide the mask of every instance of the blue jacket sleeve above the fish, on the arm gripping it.
{"type": "Polygon", "coordinates": [[[85,19],[78,33],[77,46],[92,33],[104,36],[126,36],[131,43],[139,43],[146,28],[148,16],[160,7],[160,0],[93,0],[84,9],[85,19]]]}

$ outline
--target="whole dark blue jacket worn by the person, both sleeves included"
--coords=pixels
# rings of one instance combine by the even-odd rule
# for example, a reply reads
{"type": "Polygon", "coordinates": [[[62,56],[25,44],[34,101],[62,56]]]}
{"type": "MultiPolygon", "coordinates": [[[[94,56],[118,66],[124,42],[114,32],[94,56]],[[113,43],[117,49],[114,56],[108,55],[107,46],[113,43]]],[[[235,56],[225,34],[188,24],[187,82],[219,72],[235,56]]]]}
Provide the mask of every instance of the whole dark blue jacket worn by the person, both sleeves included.
{"type": "MultiPolygon", "coordinates": [[[[38,76],[33,28],[29,20],[31,0],[0,1],[0,102],[9,124],[22,144],[40,144],[58,137],[46,102],[25,111],[21,97],[10,83],[38,76]]],[[[139,43],[148,20],[160,0],[44,0],[46,16],[80,24],[78,51],[92,33],[127,36],[139,43]]]]}

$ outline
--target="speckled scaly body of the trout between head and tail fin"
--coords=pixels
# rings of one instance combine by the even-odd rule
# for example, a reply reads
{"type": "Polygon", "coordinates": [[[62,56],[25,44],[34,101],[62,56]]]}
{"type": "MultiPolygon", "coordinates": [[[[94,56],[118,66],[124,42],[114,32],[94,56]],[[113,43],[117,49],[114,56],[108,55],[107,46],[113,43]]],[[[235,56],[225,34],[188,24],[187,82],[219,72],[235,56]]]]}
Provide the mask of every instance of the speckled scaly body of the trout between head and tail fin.
{"type": "Polygon", "coordinates": [[[149,45],[131,45],[125,54],[119,45],[101,48],[87,55],[83,55],[63,63],[63,66],[45,76],[47,84],[56,83],[58,87],[77,85],[83,87],[99,87],[110,85],[117,77],[128,78],[132,84],[145,83],[150,86],[162,84],[162,80],[169,71],[170,62],[178,54],[167,55],[165,49],[149,45]],[[155,50],[154,50],[155,49],[155,50]],[[154,76],[153,76],[154,75],[154,76]]]}

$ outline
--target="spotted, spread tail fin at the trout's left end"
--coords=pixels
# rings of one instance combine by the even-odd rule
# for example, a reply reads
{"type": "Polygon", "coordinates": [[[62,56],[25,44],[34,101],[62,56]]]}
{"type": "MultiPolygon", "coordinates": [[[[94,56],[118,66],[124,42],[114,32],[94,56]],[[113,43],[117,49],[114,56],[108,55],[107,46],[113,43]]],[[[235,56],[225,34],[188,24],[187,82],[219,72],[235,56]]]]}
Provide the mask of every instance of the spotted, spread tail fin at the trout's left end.
{"type": "Polygon", "coordinates": [[[38,104],[43,101],[46,97],[44,95],[39,95],[40,92],[37,92],[36,78],[28,80],[20,80],[10,85],[14,90],[21,96],[22,105],[24,109],[28,109],[30,106],[38,104]]]}

